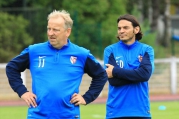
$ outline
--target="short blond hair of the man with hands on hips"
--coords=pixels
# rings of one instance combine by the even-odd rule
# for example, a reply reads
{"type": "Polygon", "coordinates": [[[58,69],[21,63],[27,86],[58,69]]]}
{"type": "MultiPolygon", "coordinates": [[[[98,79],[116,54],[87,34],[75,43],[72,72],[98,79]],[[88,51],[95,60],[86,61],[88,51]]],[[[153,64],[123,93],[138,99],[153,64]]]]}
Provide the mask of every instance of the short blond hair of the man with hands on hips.
{"type": "Polygon", "coordinates": [[[54,10],[53,12],[51,12],[49,15],[48,15],[48,18],[47,20],[49,20],[50,18],[58,18],[58,17],[62,17],[65,21],[65,29],[67,28],[72,28],[73,26],[73,20],[71,19],[70,17],[70,14],[65,11],[65,10],[54,10]]]}

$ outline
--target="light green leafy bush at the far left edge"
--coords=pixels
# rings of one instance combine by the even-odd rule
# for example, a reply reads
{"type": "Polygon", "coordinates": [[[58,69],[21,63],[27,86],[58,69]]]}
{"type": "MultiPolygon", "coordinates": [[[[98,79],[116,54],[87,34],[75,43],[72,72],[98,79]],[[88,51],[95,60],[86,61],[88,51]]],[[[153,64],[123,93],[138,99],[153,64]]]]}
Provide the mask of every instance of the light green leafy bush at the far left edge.
{"type": "Polygon", "coordinates": [[[0,12],[0,62],[7,62],[18,54],[24,46],[32,43],[26,32],[28,21],[22,16],[0,12]]]}

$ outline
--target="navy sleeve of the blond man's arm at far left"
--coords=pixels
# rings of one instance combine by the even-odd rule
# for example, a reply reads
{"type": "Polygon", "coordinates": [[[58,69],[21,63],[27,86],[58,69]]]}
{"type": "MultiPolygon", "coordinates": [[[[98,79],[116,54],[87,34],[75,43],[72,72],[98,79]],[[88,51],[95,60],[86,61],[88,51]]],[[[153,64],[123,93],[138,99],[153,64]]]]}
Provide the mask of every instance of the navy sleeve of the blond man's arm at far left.
{"type": "Polygon", "coordinates": [[[25,71],[27,68],[29,68],[29,53],[27,52],[27,49],[9,61],[6,65],[6,75],[9,84],[19,97],[27,92],[27,88],[23,85],[21,78],[21,72],[25,71]]]}

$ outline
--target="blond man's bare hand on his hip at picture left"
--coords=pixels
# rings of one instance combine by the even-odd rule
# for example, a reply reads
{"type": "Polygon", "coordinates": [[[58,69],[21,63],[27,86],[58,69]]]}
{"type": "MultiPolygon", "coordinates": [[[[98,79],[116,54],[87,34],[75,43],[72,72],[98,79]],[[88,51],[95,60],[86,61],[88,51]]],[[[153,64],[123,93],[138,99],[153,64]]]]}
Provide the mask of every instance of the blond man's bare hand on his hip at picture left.
{"type": "Polygon", "coordinates": [[[28,107],[33,106],[34,108],[37,107],[37,103],[36,103],[36,95],[33,94],[32,92],[26,92],[24,93],[21,98],[26,102],[26,104],[28,105],[28,107]]]}

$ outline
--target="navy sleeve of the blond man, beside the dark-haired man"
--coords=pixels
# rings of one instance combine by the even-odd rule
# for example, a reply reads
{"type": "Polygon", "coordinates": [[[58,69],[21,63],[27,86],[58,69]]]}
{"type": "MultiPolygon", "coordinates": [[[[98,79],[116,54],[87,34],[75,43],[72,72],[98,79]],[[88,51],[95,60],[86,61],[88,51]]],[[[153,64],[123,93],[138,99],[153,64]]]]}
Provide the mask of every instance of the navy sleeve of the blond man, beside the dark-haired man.
{"type": "Polygon", "coordinates": [[[94,101],[101,93],[107,81],[107,74],[101,64],[91,54],[86,59],[84,71],[92,78],[89,90],[83,95],[86,104],[88,104],[94,101]]]}

